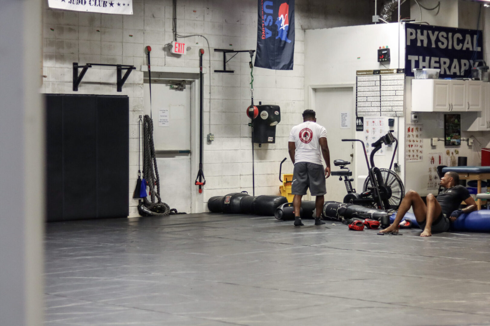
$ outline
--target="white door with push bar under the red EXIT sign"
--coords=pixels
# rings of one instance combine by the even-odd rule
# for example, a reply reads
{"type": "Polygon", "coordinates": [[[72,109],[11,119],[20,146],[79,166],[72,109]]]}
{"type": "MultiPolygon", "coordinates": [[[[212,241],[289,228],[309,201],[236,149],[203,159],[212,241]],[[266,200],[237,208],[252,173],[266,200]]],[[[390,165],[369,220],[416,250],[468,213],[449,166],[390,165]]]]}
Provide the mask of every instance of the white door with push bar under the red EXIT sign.
{"type": "MultiPolygon", "coordinates": [[[[144,84],[144,114],[150,115],[148,81],[144,84]]],[[[178,212],[191,213],[191,87],[151,80],[153,140],[162,201],[178,212]]],[[[198,155],[198,153],[197,153],[198,155]]],[[[196,171],[197,173],[197,171],[196,171]]],[[[149,198],[149,197],[148,197],[149,198]]]]}

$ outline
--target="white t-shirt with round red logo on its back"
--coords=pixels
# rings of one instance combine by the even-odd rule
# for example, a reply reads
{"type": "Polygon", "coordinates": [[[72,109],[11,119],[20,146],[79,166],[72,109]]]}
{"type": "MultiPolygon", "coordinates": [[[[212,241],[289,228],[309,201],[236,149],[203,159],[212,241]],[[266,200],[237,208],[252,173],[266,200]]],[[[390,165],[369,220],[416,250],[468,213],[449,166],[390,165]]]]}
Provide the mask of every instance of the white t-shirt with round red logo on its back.
{"type": "Polygon", "coordinates": [[[289,141],[294,142],[294,163],[310,162],[323,165],[319,139],[327,138],[327,130],[316,122],[306,121],[294,126],[289,133],[289,141]]]}

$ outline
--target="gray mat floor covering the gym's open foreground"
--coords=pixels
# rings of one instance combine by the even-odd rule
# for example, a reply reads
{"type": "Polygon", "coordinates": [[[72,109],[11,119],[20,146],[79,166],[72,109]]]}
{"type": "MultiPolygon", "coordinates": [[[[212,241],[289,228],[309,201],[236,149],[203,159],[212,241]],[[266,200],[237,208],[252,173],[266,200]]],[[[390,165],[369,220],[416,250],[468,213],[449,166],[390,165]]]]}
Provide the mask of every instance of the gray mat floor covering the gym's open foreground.
{"type": "Polygon", "coordinates": [[[46,322],[490,325],[490,235],[193,214],[47,224],[46,322]]]}

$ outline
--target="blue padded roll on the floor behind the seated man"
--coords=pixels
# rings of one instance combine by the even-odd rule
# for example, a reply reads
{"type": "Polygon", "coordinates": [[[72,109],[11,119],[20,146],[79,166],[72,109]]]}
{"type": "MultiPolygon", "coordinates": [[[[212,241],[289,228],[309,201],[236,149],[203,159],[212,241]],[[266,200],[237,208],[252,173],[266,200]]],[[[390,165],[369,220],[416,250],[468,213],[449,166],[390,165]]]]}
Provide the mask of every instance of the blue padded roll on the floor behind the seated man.
{"type": "MultiPolygon", "coordinates": [[[[393,222],[396,213],[390,217],[393,222]]],[[[414,214],[407,213],[402,218],[410,219],[414,223],[414,227],[419,227],[414,214]]],[[[461,214],[454,223],[451,223],[451,230],[455,231],[473,231],[473,232],[490,232],[490,210],[474,211],[469,214],[461,214]]]]}

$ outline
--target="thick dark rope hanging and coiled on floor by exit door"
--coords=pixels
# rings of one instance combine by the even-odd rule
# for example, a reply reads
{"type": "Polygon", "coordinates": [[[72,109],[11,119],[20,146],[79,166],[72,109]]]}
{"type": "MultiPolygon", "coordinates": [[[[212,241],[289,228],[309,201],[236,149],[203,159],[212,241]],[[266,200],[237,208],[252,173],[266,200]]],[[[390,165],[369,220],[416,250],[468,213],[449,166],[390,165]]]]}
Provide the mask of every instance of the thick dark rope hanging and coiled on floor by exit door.
{"type": "Polygon", "coordinates": [[[153,120],[148,115],[143,117],[143,178],[147,180],[151,201],[145,197],[140,202],[138,212],[141,216],[186,214],[177,213],[174,208],[170,209],[169,205],[162,202],[160,197],[160,176],[156,165],[155,144],[153,143],[153,120]]]}

